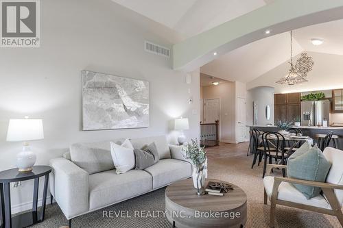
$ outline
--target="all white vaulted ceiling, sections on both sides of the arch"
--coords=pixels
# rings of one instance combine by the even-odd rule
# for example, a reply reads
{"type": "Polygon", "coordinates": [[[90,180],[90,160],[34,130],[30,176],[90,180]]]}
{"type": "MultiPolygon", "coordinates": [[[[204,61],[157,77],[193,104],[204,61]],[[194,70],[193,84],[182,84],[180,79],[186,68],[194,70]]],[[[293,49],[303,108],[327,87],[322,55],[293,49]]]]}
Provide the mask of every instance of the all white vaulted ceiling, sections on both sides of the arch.
{"type": "MultiPolygon", "coordinates": [[[[274,0],[112,1],[174,29],[182,38],[189,38],[274,0]]],[[[302,51],[343,55],[343,20],[296,29],[293,34],[294,55],[302,51]],[[311,38],[322,38],[324,43],[314,46],[311,38]]],[[[200,71],[228,81],[249,82],[287,62],[289,55],[289,32],[275,36],[270,34],[262,40],[218,56],[202,66],[200,71]]]]}

